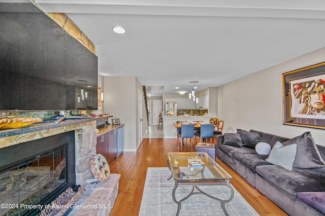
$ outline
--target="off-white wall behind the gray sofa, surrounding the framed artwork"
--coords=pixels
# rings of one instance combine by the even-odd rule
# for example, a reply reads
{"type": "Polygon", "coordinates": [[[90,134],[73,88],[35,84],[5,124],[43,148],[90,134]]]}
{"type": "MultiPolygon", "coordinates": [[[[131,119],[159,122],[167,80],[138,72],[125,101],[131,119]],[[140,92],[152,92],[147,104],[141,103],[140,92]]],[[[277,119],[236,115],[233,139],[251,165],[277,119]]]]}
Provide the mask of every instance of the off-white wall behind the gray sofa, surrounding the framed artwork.
{"type": "Polygon", "coordinates": [[[323,129],[282,124],[282,74],[324,60],[322,48],[218,87],[217,109],[218,118],[224,120],[223,132],[255,129],[291,138],[311,131],[315,142],[325,146],[323,129]]]}

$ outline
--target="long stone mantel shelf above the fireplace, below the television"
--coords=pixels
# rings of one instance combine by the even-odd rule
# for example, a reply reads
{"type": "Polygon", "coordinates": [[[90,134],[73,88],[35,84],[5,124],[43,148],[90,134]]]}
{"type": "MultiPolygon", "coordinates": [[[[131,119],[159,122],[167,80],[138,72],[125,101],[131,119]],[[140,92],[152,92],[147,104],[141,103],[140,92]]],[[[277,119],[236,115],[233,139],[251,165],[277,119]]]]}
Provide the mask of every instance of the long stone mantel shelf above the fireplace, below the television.
{"type": "Polygon", "coordinates": [[[83,118],[83,119],[67,119],[63,120],[62,122],[58,124],[51,123],[35,123],[23,128],[17,128],[17,129],[6,129],[6,130],[0,130],[0,138],[9,137],[9,136],[16,136],[20,134],[25,133],[31,133],[31,132],[37,132],[41,130],[49,130],[59,127],[65,127],[69,125],[74,124],[81,124],[85,122],[91,122],[91,121],[97,121],[107,118],[112,118],[113,116],[101,116],[101,117],[94,117],[94,118],[83,118]]]}

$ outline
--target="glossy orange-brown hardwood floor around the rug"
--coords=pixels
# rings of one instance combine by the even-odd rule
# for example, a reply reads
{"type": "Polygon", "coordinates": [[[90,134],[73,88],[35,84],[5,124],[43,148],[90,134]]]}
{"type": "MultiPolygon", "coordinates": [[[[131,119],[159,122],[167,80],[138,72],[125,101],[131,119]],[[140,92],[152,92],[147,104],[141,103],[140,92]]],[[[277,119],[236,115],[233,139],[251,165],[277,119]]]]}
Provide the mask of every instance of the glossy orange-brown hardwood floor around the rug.
{"type": "MultiPolygon", "coordinates": [[[[118,196],[110,215],[138,215],[148,167],[167,167],[167,153],[181,151],[176,138],[145,138],[137,152],[124,152],[110,164],[111,173],[121,174],[118,196]]],[[[194,152],[189,142],[183,152],[194,152]]],[[[253,189],[244,178],[220,160],[233,176],[231,184],[260,215],[287,215],[267,197],[253,189]]],[[[216,201],[216,208],[220,204],[216,201]]]]}

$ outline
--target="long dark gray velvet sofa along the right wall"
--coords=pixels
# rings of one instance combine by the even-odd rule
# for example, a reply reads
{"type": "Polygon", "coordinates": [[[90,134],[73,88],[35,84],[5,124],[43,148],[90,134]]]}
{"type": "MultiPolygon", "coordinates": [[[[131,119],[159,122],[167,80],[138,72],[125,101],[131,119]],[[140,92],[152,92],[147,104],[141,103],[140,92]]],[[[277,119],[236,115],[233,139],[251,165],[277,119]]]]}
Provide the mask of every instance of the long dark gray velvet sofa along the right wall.
{"type": "Polygon", "coordinates": [[[325,208],[325,165],[322,160],[325,159],[325,146],[316,145],[310,132],[292,139],[256,130],[238,130],[235,135],[225,133],[218,137],[216,154],[287,214],[325,214],[322,211],[325,208]],[[291,170],[267,162],[269,155],[260,155],[255,151],[258,142],[266,142],[273,147],[277,141],[283,146],[296,143],[295,162],[291,170]],[[322,199],[320,204],[317,200],[310,203],[298,198],[300,193],[304,195],[306,192],[318,193],[322,199]]]}

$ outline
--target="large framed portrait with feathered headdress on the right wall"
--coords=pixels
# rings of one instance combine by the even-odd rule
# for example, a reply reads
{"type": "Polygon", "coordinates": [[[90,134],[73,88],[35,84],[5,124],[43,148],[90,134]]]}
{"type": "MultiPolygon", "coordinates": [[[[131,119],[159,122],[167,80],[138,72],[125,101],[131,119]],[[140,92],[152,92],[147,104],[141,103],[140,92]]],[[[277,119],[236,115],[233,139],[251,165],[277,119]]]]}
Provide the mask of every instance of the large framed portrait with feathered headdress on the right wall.
{"type": "Polygon", "coordinates": [[[283,124],[325,129],[325,62],[282,74],[283,124]]]}

